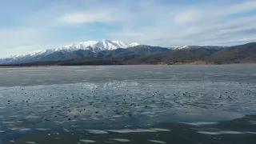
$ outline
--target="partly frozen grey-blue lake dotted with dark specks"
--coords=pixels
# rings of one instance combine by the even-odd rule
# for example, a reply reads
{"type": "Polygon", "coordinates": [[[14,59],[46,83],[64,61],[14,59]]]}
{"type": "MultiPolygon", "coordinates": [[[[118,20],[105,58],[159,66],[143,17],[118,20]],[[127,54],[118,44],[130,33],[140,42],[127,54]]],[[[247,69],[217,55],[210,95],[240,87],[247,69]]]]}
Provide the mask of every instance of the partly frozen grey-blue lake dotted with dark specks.
{"type": "Polygon", "coordinates": [[[0,69],[0,143],[248,144],[255,114],[255,65],[0,69]]]}

